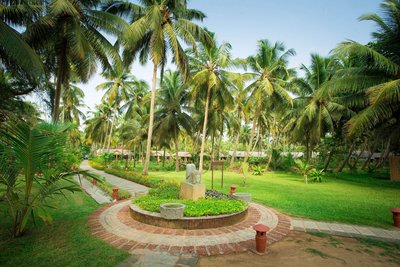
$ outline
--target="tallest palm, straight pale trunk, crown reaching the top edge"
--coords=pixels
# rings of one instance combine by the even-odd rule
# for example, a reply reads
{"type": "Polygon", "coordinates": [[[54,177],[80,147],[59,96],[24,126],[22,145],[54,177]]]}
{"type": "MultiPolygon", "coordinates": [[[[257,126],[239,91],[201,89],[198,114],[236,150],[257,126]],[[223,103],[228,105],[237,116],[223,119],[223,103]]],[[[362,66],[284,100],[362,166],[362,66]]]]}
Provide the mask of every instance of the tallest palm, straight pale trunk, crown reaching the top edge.
{"type": "Polygon", "coordinates": [[[185,80],[188,67],[180,39],[194,49],[196,41],[211,45],[212,40],[205,30],[192,22],[192,20],[202,21],[205,15],[198,10],[188,9],[186,0],[145,0],[140,2],[142,6],[118,1],[108,6],[107,10],[121,15],[130,15],[131,25],[121,41],[124,44],[126,58],[133,60],[138,55],[142,64],[146,63],[148,58],[153,61],[146,161],[143,167],[143,174],[147,175],[153,135],[158,67],[161,67],[162,75],[167,62],[167,51],[170,49],[174,63],[185,80]]]}

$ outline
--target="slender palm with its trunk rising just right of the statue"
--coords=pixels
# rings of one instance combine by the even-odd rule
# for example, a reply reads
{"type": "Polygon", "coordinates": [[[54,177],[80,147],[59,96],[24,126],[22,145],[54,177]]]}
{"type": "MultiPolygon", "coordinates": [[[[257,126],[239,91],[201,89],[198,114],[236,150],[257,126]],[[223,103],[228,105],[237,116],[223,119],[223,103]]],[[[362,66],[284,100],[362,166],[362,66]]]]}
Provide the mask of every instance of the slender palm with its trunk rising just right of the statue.
{"type": "Polygon", "coordinates": [[[208,113],[210,102],[214,97],[222,99],[224,102],[233,103],[232,95],[229,92],[230,72],[226,70],[232,65],[231,45],[222,43],[215,46],[199,47],[199,51],[188,51],[191,64],[191,78],[189,84],[192,89],[192,97],[197,100],[204,99],[204,121],[202,130],[202,140],[200,149],[199,172],[203,170],[204,148],[206,143],[208,113]]]}

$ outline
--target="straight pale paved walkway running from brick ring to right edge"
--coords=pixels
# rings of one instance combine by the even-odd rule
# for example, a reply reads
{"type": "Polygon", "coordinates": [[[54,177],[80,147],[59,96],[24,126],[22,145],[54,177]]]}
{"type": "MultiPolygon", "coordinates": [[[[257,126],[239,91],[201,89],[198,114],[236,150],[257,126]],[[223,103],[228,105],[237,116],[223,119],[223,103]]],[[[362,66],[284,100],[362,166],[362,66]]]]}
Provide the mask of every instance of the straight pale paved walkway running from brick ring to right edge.
{"type": "Polygon", "coordinates": [[[338,236],[368,237],[390,241],[400,241],[400,229],[385,230],[375,227],[318,222],[301,218],[292,218],[291,223],[293,230],[301,232],[323,232],[338,236]]]}

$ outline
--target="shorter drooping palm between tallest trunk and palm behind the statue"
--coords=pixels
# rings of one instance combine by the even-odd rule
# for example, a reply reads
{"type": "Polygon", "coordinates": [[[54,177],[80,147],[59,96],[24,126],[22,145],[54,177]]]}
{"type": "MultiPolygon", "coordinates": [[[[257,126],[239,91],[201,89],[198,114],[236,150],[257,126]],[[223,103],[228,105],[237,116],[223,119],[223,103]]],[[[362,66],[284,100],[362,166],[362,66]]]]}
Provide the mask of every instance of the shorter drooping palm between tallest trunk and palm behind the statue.
{"type": "Polygon", "coordinates": [[[189,101],[188,91],[178,71],[167,71],[158,92],[157,110],[154,114],[155,136],[159,139],[158,143],[162,143],[161,139],[168,140],[169,137],[174,140],[175,170],[179,171],[178,137],[183,129],[191,134],[194,125],[192,117],[184,110],[189,101]]]}

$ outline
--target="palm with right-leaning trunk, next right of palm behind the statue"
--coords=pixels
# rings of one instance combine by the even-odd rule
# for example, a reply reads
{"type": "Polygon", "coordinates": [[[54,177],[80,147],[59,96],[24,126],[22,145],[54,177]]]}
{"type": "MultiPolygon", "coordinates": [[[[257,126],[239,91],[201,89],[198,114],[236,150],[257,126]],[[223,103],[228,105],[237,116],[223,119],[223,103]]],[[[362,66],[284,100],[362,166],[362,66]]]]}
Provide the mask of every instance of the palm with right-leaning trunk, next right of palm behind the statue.
{"type": "Polygon", "coordinates": [[[295,55],[293,49],[285,50],[283,43],[271,44],[268,40],[258,42],[258,52],[244,60],[245,67],[253,71],[256,80],[249,85],[249,104],[254,107],[250,142],[244,161],[247,162],[252,148],[255,129],[262,110],[266,109],[267,99],[274,96],[276,101],[292,104],[288,93],[288,79],[294,74],[287,68],[289,56],[295,55]]]}

